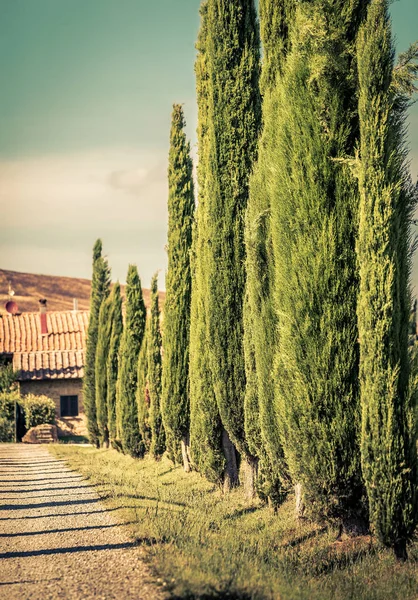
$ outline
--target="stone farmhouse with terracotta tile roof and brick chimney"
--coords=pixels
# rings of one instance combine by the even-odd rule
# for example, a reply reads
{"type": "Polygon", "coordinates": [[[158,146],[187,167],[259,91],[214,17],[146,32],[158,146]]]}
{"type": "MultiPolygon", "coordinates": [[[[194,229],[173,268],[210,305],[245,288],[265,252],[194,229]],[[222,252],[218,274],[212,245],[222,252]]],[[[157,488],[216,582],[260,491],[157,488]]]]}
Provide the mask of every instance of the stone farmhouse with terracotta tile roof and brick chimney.
{"type": "Polygon", "coordinates": [[[11,304],[0,314],[0,363],[12,363],[21,393],[45,394],[55,401],[61,435],[86,433],[82,378],[88,311],[19,313],[11,304]]]}

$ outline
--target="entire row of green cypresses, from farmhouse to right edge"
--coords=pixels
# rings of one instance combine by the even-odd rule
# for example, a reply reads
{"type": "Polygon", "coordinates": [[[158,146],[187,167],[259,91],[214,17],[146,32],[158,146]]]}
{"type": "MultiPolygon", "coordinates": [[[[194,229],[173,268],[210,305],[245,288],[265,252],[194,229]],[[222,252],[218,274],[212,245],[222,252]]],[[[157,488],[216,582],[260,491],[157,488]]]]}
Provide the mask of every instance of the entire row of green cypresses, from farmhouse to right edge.
{"type": "Polygon", "coordinates": [[[121,312],[95,247],[90,436],[137,457],[167,450],[225,490],[241,477],[273,505],[294,486],[298,514],[370,524],[405,558],[418,503],[404,126],[417,49],[395,67],[386,0],[259,7],[260,27],[253,0],[201,6],[198,206],[174,105],[162,339],[157,280],[146,319],[130,267],[117,349],[121,312]]]}

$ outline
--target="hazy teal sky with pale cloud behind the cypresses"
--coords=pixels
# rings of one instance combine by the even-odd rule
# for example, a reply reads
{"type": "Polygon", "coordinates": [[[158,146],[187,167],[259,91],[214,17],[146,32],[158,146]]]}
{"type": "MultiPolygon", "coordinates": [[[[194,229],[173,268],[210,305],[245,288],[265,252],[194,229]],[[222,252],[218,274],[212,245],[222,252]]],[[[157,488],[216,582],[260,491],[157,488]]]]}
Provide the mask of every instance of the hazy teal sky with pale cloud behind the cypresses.
{"type": "MultiPolygon", "coordinates": [[[[113,279],[131,262],[163,285],[170,112],[185,104],[195,151],[199,5],[0,0],[0,267],[90,277],[101,237],[113,279]]],[[[418,2],[391,12],[402,50],[418,2]]],[[[418,105],[410,123],[416,178],[418,105]]]]}

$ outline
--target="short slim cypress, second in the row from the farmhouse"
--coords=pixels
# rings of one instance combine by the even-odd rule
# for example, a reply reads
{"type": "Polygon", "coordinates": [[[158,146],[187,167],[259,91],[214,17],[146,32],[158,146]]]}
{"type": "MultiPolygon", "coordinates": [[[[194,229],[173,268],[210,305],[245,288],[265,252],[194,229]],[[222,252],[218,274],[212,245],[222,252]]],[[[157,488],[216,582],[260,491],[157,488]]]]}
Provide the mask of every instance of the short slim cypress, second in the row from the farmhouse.
{"type": "Polygon", "coordinates": [[[109,447],[107,423],[107,360],[112,331],[112,296],[102,302],[99,312],[99,328],[96,349],[96,413],[101,444],[109,447]]]}

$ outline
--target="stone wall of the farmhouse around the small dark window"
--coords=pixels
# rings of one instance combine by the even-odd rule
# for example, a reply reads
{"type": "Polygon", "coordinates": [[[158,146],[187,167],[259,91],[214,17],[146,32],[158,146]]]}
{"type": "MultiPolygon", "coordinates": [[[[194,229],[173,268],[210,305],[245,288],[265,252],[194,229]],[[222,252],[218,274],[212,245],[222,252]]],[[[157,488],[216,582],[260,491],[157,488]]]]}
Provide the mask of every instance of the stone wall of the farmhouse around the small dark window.
{"type": "Polygon", "coordinates": [[[59,436],[87,435],[81,379],[21,381],[19,385],[22,395],[45,395],[54,400],[59,436]],[[78,396],[78,417],[61,417],[60,396],[78,396]]]}

